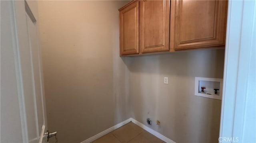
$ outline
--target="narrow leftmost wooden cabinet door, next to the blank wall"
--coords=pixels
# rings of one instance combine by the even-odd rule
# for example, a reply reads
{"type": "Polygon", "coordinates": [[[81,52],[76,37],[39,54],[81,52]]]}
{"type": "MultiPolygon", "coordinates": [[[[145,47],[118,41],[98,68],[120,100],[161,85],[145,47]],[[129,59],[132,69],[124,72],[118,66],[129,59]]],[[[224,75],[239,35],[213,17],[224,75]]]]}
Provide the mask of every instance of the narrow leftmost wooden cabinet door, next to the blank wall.
{"type": "Polygon", "coordinates": [[[139,53],[139,2],[119,9],[120,55],[139,53]]]}

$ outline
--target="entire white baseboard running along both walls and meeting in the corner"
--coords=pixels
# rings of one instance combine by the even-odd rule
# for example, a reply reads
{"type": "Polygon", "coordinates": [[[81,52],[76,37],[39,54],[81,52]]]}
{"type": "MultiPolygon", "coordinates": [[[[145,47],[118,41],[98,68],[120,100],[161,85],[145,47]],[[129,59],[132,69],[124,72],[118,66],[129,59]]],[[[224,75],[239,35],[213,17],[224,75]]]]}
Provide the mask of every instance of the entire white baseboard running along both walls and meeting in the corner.
{"type": "Polygon", "coordinates": [[[146,131],[148,131],[152,135],[158,137],[159,139],[162,139],[162,141],[165,141],[166,143],[175,143],[174,141],[172,141],[168,137],[165,137],[164,135],[158,133],[154,129],[151,129],[150,127],[147,127],[143,123],[140,123],[139,121],[137,121],[133,118],[126,119],[125,121],[122,121],[121,123],[118,123],[117,125],[114,125],[113,127],[110,127],[108,129],[106,129],[105,131],[102,131],[102,132],[98,133],[97,135],[94,135],[93,137],[90,137],[89,139],[86,139],[85,141],[82,141],[81,143],[90,143],[92,141],[95,141],[96,139],[106,135],[107,133],[110,133],[111,131],[114,131],[115,129],[117,129],[119,127],[122,127],[123,125],[125,125],[126,123],[129,123],[130,121],[132,121],[136,125],[140,126],[142,129],[145,129],[146,131]]]}

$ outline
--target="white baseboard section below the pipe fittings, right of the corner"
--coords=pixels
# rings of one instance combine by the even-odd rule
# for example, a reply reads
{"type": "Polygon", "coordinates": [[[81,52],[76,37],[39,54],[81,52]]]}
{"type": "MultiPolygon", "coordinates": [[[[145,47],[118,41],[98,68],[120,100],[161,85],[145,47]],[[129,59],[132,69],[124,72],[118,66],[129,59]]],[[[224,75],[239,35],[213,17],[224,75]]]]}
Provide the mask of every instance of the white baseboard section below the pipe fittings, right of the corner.
{"type": "Polygon", "coordinates": [[[146,131],[148,131],[152,135],[158,137],[159,139],[162,139],[162,141],[165,141],[166,143],[175,143],[174,141],[172,141],[168,137],[165,137],[164,135],[158,133],[154,129],[151,129],[150,127],[147,127],[146,125],[144,125],[143,123],[140,123],[136,119],[131,118],[131,121],[132,121],[132,123],[135,123],[136,125],[140,126],[142,129],[145,129],[146,131]]]}

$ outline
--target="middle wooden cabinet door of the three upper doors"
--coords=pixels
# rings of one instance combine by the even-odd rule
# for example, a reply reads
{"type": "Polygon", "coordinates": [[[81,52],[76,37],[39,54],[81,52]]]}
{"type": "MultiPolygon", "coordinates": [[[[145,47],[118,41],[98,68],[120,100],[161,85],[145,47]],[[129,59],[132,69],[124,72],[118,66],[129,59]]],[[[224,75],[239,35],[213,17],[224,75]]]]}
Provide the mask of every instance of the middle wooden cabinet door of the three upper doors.
{"type": "Polygon", "coordinates": [[[169,50],[170,0],[140,1],[142,53],[169,50]]]}

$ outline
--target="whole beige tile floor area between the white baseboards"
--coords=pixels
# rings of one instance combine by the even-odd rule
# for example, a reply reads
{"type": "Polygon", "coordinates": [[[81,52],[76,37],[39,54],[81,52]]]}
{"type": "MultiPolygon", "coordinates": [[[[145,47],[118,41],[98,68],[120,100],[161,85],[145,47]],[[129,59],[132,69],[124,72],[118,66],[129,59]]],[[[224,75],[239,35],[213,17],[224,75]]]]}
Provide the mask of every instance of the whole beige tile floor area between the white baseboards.
{"type": "Polygon", "coordinates": [[[96,139],[92,143],[165,143],[138,125],[130,122],[96,139]]]}

